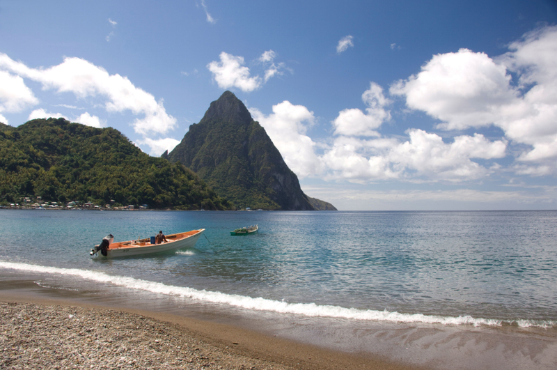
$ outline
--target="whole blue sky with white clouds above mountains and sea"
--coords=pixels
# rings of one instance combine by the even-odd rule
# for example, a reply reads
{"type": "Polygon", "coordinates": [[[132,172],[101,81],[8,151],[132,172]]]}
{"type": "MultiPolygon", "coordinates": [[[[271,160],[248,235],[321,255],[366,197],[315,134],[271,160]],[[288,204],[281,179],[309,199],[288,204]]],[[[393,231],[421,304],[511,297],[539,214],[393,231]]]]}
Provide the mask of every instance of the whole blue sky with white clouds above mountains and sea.
{"type": "Polygon", "coordinates": [[[557,209],[555,0],[0,0],[0,122],[159,156],[227,90],[339,210],[557,209]]]}

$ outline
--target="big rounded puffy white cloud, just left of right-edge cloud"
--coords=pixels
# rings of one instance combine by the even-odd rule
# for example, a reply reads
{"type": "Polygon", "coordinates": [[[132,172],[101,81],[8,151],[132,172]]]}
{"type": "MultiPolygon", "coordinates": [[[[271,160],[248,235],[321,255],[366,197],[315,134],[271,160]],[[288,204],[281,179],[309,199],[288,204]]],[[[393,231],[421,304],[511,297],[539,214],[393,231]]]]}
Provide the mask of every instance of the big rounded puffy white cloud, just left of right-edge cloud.
{"type": "Polygon", "coordinates": [[[391,86],[391,93],[405,95],[409,108],[443,121],[446,130],[489,125],[517,95],[504,65],[468,49],[433,56],[418,75],[391,86]]]}

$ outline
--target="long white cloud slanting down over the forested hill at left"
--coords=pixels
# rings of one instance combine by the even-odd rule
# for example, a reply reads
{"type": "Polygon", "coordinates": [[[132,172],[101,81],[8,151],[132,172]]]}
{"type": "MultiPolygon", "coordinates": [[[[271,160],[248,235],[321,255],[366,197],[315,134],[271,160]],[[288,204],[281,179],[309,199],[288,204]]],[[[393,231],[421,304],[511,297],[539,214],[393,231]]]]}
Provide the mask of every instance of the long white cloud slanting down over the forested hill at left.
{"type": "Polygon", "coordinates": [[[176,119],[166,113],[162,100],[155,98],[118,74],[109,75],[104,68],[79,58],[65,58],[63,63],[51,68],[28,68],[24,63],[13,61],[0,54],[0,70],[40,82],[45,90],[73,93],[80,99],[105,98],[109,112],[131,111],[143,116],[132,124],[135,132],[164,134],[175,127],[176,119]]]}

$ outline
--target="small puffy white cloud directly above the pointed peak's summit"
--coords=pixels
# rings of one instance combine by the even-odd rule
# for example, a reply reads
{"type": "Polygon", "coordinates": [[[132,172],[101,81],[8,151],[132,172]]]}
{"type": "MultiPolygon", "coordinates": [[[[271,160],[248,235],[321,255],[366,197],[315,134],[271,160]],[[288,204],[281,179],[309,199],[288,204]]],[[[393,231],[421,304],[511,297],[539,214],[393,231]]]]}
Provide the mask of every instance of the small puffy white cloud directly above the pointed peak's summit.
{"type": "Polygon", "coordinates": [[[220,88],[237,87],[249,92],[261,86],[260,77],[250,77],[249,68],[242,66],[244,64],[242,56],[221,52],[220,59],[220,63],[212,61],[207,65],[220,88]]]}

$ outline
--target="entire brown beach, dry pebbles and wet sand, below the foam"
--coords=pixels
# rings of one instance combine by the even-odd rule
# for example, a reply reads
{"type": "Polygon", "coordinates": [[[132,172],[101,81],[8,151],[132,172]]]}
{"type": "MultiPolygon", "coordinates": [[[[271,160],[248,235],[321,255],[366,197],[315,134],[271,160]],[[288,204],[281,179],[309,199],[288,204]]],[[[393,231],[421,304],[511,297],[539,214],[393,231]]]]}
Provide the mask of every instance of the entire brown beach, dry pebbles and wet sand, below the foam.
{"type": "Polygon", "coordinates": [[[42,360],[52,364],[46,367],[51,369],[63,360],[68,366],[61,368],[79,369],[93,366],[99,369],[553,370],[557,364],[555,328],[379,322],[352,327],[350,322],[323,319],[309,330],[301,319],[285,324],[266,322],[263,318],[253,323],[235,314],[223,316],[222,310],[217,314],[200,313],[188,305],[166,306],[163,302],[156,307],[141,298],[135,301],[128,298],[47,288],[33,279],[4,275],[0,278],[0,302],[4,302],[0,304],[3,318],[0,368],[25,369],[26,361],[31,360],[22,354],[40,360],[38,337],[40,343],[57,343],[61,337],[71,339],[71,345],[60,353],[56,353],[58,348],[44,352],[42,360]],[[22,316],[21,312],[33,314],[22,316]],[[68,321],[70,315],[74,320],[79,317],[86,321],[89,331],[74,327],[75,323],[68,321]],[[56,325],[53,331],[50,322],[54,316],[56,322],[64,324],[56,325]],[[146,322],[149,325],[130,324],[146,322]],[[29,323],[33,326],[26,328],[29,323]],[[91,337],[91,333],[97,337],[91,337]],[[120,341],[125,343],[118,350],[100,350],[103,357],[97,358],[91,352],[92,344],[97,348],[113,348],[112,344],[120,341]],[[198,350],[189,351],[193,347],[198,350]],[[48,357],[53,351],[54,360],[48,357]],[[81,362],[68,362],[77,358],[76,353],[81,353],[78,356],[81,362]]]}

